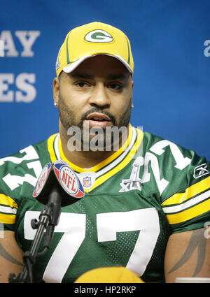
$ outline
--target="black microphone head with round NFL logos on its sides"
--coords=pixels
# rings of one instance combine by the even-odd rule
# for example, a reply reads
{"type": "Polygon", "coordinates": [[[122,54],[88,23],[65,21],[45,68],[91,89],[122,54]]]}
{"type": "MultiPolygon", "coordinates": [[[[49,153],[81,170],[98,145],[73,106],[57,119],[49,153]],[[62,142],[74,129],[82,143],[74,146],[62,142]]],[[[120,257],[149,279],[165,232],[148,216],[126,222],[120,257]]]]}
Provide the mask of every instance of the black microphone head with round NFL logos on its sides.
{"type": "Polygon", "coordinates": [[[78,176],[66,161],[59,160],[43,167],[34,187],[33,197],[43,204],[48,203],[48,196],[57,191],[61,197],[61,205],[75,203],[85,196],[78,176]]]}

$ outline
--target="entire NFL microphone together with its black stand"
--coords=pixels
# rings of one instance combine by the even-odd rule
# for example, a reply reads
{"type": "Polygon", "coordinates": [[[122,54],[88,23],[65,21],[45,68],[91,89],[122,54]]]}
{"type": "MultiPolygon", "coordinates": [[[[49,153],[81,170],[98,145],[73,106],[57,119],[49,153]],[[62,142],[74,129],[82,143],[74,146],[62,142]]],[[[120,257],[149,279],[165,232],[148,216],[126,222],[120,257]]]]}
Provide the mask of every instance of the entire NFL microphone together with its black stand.
{"type": "Polygon", "coordinates": [[[43,256],[48,251],[55,226],[59,222],[61,208],[80,201],[83,196],[85,191],[78,176],[65,161],[55,161],[43,167],[34,187],[33,197],[45,206],[38,221],[31,220],[32,228],[37,231],[29,251],[23,256],[25,265],[22,272],[18,277],[10,273],[9,282],[33,282],[32,266],[36,256],[43,256]],[[38,252],[44,231],[43,251],[38,252]]]}

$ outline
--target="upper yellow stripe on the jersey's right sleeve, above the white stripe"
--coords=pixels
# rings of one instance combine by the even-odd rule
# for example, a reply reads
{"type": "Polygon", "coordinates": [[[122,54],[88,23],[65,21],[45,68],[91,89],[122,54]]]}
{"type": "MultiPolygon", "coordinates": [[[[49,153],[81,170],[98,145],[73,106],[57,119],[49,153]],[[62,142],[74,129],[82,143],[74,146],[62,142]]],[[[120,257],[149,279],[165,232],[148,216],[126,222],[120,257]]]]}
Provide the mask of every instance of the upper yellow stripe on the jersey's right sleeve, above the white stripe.
{"type": "Polygon", "coordinates": [[[179,204],[210,188],[210,176],[188,187],[184,193],[176,193],[162,203],[162,206],[179,204]]]}

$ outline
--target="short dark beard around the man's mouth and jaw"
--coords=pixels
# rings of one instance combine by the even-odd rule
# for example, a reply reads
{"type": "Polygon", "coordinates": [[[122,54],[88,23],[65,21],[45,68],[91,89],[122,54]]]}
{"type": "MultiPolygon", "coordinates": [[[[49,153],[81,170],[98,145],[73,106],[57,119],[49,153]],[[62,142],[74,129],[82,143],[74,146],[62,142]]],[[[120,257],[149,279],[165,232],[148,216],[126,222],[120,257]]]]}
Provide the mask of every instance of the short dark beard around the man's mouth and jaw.
{"type": "MultiPolygon", "coordinates": [[[[94,147],[97,147],[97,150],[104,150],[104,147],[106,147],[106,150],[112,150],[114,143],[117,143],[116,150],[119,149],[121,145],[127,140],[127,126],[130,123],[130,117],[131,117],[131,110],[132,110],[132,99],[130,99],[130,102],[127,106],[127,110],[125,110],[125,113],[120,116],[119,121],[116,121],[116,117],[114,117],[111,113],[109,113],[106,110],[103,110],[102,108],[93,107],[90,108],[90,110],[87,110],[87,112],[83,113],[81,115],[80,119],[76,119],[76,114],[64,104],[64,101],[62,99],[62,96],[59,94],[59,119],[62,123],[62,126],[66,130],[66,136],[69,135],[68,131],[69,128],[77,127],[80,129],[79,139],[80,144],[83,145],[83,150],[92,150],[91,147],[91,141],[93,143],[93,138],[97,139],[95,140],[94,147]],[[113,124],[112,127],[106,127],[105,129],[97,129],[92,128],[89,129],[89,127],[84,127],[84,121],[87,119],[87,116],[91,113],[102,113],[106,116],[108,116],[111,119],[111,122],[113,124]],[[118,132],[116,133],[117,137],[113,134],[113,128],[115,128],[118,132]],[[124,128],[124,129],[123,129],[124,128]],[[87,149],[88,148],[88,149],[87,149]]],[[[70,133],[70,135],[72,135],[70,133]]],[[[71,137],[71,136],[70,136],[71,137]]],[[[71,147],[71,146],[70,146],[71,147]]],[[[70,147],[68,146],[69,150],[70,147]]],[[[95,151],[95,149],[93,149],[95,151]]]]}

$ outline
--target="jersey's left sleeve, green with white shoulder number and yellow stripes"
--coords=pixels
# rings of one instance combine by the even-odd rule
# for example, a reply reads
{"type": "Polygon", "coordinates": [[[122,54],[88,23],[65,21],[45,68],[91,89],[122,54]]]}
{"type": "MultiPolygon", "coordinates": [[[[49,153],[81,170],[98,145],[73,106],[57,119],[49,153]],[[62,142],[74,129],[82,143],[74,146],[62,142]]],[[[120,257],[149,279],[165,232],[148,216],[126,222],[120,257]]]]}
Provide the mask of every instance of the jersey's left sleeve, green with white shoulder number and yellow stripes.
{"type": "Polygon", "coordinates": [[[41,163],[33,146],[0,159],[0,224],[1,229],[15,231],[18,205],[31,195],[41,163]]]}

